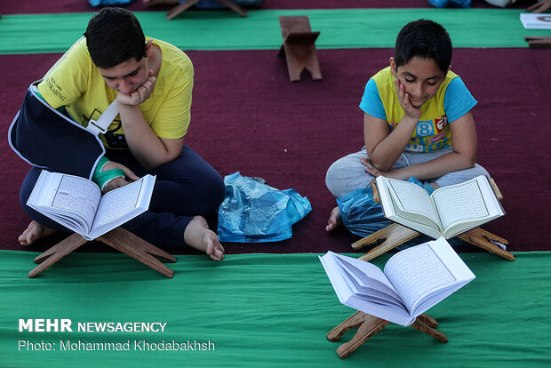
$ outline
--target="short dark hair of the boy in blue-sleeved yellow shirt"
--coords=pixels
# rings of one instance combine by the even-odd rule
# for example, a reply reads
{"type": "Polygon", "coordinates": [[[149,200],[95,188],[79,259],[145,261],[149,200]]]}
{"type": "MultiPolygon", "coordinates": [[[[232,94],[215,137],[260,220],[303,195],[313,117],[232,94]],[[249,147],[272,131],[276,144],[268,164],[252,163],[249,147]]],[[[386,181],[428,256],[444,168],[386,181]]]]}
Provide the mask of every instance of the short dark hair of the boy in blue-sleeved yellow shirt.
{"type": "Polygon", "coordinates": [[[445,28],[432,20],[415,20],[403,26],[396,37],[396,68],[414,57],[435,60],[444,73],[450,68],[451,39],[445,28]]]}

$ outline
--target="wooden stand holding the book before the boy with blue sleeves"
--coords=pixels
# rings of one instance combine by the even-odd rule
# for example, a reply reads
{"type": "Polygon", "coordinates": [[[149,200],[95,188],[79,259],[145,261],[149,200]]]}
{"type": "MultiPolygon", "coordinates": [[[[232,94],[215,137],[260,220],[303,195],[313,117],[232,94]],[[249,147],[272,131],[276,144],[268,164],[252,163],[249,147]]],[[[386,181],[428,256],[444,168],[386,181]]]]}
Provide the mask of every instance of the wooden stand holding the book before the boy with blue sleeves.
{"type": "MultiPolygon", "coordinates": [[[[490,184],[498,199],[501,200],[503,196],[501,195],[495,181],[490,179],[490,184]]],[[[380,203],[379,191],[377,190],[375,180],[371,181],[371,188],[373,189],[373,200],[380,203]]],[[[352,248],[361,249],[366,245],[374,245],[382,242],[378,246],[372,248],[370,252],[367,252],[359,258],[360,260],[372,260],[375,257],[378,257],[379,255],[388,252],[396,246],[403,244],[419,235],[419,232],[412,230],[411,228],[405,228],[399,224],[392,224],[387,226],[387,228],[383,228],[370,236],[365,236],[363,239],[358,240],[352,244],[352,248]]],[[[515,256],[511,252],[507,252],[498,244],[492,243],[492,241],[494,241],[507,245],[509,242],[507,242],[506,239],[495,236],[482,228],[474,228],[467,231],[466,233],[459,235],[459,238],[469,244],[473,244],[486,251],[495,253],[499,255],[499,257],[503,257],[506,260],[515,260],[515,256]]]]}

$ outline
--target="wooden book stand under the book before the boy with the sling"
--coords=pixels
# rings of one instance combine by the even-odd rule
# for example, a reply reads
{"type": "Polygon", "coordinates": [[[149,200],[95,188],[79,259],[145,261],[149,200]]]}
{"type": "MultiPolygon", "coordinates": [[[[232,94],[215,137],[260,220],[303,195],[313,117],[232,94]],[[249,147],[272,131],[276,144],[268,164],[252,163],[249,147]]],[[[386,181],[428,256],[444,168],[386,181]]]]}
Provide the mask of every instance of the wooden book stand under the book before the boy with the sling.
{"type": "MultiPolygon", "coordinates": [[[[155,269],[164,276],[169,278],[174,276],[174,271],[171,268],[166,267],[154,257],[156,256],[161,260],[174,263],[176,262],[176,259],[172,257],[172,255],[160,250],[152,244],[149,244],[145,240],[133,235],[130,231],[127,231],[124,228],[115,228],[107,234],[100,236],[96,240],[99,240],[104,244],[108,244],[110,247],[115,248],[119,252],[123,252],[124,254],[132,257],[134,260],[139,260],[144,265],[155,269]]],[[[58,244],[55,244],[46,252],[36,256],[35,263],[40,264],[28,273],[28,277],[35,277],[44,271],[44,269],[49,268],[58,260],[65,258],[70,252],[75,251],[87,242],[88,240],[76,233],[72,236],[68,236],[68,238],[60,241],[58,244]]]]}

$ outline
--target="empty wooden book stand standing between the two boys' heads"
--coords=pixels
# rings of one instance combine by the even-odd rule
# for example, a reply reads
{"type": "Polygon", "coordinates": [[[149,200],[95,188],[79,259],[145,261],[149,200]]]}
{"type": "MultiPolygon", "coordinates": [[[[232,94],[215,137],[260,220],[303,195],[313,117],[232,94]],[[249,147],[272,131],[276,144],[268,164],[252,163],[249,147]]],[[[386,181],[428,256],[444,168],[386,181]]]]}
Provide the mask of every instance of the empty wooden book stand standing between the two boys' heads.
{"type": "Polygon", "coordinates": [[[312,32],[307,16],[281,16],[279,24],[283,44],[277,55],[285,55],[291,82],[300,81],[300,74],[305,68],[310,72],[312,79],[321,80],[322,70],[315,51],[315,39],[320,33],[312,32]]]}

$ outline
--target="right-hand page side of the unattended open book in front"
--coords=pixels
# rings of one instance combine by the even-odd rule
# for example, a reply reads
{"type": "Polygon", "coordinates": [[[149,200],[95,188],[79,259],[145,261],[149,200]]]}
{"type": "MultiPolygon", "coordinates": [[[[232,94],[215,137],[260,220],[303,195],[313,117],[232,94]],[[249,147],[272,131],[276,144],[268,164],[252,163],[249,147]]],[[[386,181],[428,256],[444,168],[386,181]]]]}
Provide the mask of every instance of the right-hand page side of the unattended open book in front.
{"type": "Polygon", "coordinates": [[[396,253],[387,261],[385,275],[411,316],[419,316],[475,278],[443,237],[396,253]]]}

